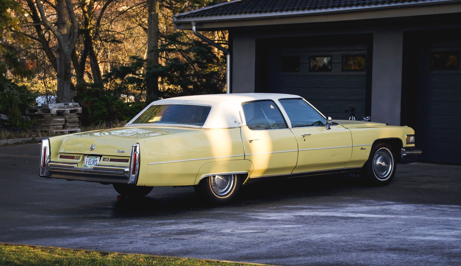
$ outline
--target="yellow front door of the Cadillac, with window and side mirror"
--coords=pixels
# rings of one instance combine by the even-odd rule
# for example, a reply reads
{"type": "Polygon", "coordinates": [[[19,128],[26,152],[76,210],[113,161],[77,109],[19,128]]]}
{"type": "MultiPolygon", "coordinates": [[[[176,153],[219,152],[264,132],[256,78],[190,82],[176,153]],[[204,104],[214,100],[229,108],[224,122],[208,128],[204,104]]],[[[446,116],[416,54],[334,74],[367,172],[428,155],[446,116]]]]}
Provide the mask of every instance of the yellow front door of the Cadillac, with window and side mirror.
{"type": "Polygon", "coordinates": [[[303,99],[281,99],[298,142],[298,162],[293,173],[341,169],[352,154],[350,130],[339,124],[325,127],[325,118],[303,99]]]}

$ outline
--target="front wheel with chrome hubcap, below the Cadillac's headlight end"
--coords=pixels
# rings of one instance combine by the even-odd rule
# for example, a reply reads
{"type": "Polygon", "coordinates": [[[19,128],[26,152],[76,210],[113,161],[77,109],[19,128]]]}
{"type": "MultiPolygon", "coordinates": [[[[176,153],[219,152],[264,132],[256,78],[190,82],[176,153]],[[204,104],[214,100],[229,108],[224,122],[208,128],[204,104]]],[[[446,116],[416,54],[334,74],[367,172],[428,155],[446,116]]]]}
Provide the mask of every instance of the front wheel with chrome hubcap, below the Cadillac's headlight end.
{"type": "Polygon", "coordinates": [[[367,183],[384,186],[390,183],[396,173],[396,161],[393,148],[386,143],[373,146],[370,156],[361,171],[361,177],[367,183]]]}

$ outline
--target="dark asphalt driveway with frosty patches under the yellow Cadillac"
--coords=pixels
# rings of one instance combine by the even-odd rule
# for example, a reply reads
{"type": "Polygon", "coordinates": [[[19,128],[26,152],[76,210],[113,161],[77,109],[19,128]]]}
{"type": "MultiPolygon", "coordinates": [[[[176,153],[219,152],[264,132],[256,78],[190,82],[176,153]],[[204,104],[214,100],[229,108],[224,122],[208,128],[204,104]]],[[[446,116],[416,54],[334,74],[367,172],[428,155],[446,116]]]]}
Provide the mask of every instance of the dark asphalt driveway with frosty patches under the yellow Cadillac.
{"type": "Polygon", "coordinates": [[[244,186],[206,207],[190,187],[116,201],[110,185],[38,177],[37,144],[0,147],[0,242],[278,265],[461,265],[461,166],[244,186]]]}

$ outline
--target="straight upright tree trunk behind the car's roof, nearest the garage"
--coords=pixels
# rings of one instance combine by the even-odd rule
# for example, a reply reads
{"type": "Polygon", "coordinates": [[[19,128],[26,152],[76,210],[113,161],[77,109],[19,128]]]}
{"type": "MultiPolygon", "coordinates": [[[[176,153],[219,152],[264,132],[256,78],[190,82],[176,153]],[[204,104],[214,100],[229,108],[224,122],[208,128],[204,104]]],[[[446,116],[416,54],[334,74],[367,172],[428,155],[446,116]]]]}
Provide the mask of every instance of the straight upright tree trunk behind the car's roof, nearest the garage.
{"type": "MultiPolygon", "coordinates": [[[[147,62],[146,69],[159,64],[159,0],[148,0],[148,32],[147,32],[147,62]]],[[[159,98],[159,77],[148,75],[146,78],[146,99],[159,98]]]]}

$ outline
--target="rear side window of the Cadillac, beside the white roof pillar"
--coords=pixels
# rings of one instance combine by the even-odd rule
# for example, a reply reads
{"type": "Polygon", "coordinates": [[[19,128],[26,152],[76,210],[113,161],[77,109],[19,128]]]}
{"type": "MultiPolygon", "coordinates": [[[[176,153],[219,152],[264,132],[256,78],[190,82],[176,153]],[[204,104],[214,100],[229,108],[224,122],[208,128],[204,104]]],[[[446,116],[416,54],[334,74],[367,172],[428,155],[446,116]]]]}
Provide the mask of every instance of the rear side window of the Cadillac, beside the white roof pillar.
{"type": "Polygon", "coordinates": [[[272,100],[244,103],[243,112],[247,126],[251,130],[287,128],[280,110],[272,100]]]}

